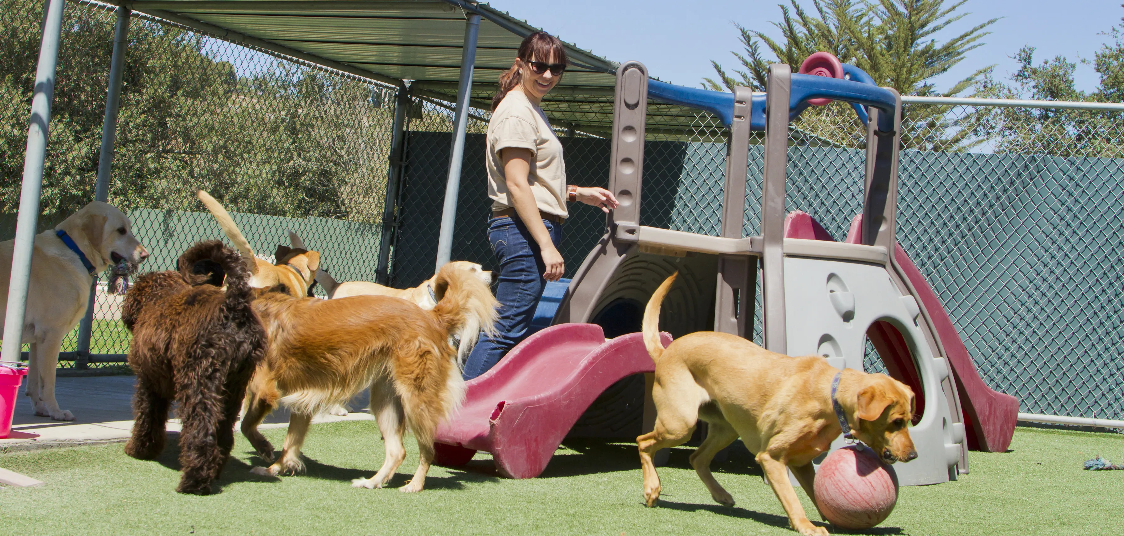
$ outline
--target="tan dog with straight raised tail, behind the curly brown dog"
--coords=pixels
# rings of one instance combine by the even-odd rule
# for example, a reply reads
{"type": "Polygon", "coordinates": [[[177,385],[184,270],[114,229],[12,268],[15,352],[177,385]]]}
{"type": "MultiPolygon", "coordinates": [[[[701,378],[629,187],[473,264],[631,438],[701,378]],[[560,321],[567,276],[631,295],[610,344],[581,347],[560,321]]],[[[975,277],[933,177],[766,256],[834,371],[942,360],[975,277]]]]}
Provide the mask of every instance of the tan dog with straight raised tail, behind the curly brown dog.
{"type": "Polygon", "coordinates": [[[308,288],[315,281],[316,271],[320,266],[320,254],[318,252],[279,245],[277,252],[273,254],[274,264],[270,264],[254,256],[254,249],[250,247],[250,242],[246,240],[245,236],[242,236],[242,231],[238,230],[238,226],[235,225],[229,212],[215,198],[202,190],[197,191],[196,197],[202,201],[207,210],[215,217],[218,226],[223,228],[223,233],[230,239],[234,247],[242,252],[246,267],[253,274],[250,279],[251,287],[271,289],[284,285],[293,297],[302,298],[308,296],[308,288]]]}

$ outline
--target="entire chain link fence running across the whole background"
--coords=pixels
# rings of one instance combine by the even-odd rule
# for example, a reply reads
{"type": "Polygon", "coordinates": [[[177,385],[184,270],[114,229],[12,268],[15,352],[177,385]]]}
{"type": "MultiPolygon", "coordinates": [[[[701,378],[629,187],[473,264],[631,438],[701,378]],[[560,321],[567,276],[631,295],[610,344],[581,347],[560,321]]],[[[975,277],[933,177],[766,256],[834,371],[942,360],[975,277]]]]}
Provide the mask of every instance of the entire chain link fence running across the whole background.
{"type": "MultiPolygon", "coordinates": [[[[43,229],[93,198],[111,8],[66,6],[43,229]]],[[[38,0],[0,0],[0,238],[15,228],[42,13],[38,0]]],[[[109,201],[153,252],[144,270],[170,269],[189,244],[220,237],[194,200],[203,188],[234,212],[260,255],[296,230],[337,280],[377,279],[395,88],[147,17],[133,19],[127,58],[109,201]]],[[[491,94],[472,98],[453,258],[495,269],[483,161],[491,94]]],[[[599,99],[547,98],[543,108],[611,108],[611,96],[599,99]]],[[[433,274],[453,121],[447,100],[419,91],[406,111],[402,181],[391,200],[397,218],[387,229],[395,231],[395,287],[433,274]]],[[[726,129],[709,113],[659,110],[692,122],[649,131],[642,224],[716,236],[726,129]]],[[[570,182],[605,187],[609,128],[592,113],[588,125],[575,117],[554,124],[570,182]]],[[[1120,125],[1121,112],[1111,110],[905,107],[898,242],[941,297],[984,379],[1017,396],[1023,411],[1124,418],[1120,125]]],[[[760,135],[751,139],[746,236],[760,234],[761,143],[760,135]]],[[[807,211],[845,238],[861,210],[863,144],[861,125],[842,105],[794,121],[787,209],[807,211]]],[[[568,276],[605,229],[599,210],[571,209],[562,247],[568,276]]],[[[127,351],[117,300],[98,294],[91,353],[127,351]]],[[[72,334],[63,349],[75,345],[72,334]]],[[[870,345],[867,354],[868,369],[879,370],[870,345]]]]}

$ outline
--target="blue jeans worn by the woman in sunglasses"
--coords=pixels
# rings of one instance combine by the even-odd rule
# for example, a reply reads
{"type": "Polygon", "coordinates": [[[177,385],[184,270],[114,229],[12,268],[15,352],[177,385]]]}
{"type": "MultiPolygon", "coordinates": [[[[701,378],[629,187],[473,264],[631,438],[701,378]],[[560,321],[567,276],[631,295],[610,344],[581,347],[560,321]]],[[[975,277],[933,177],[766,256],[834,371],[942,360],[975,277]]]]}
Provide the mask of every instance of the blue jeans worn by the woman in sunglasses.
{"type": "MultiPolygon", "coordinates": [[[[562,226],[543,220],[551,242],[562,243],[562,226]]],[[[519,218],[488,220],[488,242],[499,263],[499,284],[496,299],[500,302],[499,320],[495,337],[480,337],[472,353],[464,361],[464,379],[471,380],[499,363],[499,360],[527,336],[535,306],[543,296],[546,264],[538,244],[531,237],[527,226],[519,218]]]]}

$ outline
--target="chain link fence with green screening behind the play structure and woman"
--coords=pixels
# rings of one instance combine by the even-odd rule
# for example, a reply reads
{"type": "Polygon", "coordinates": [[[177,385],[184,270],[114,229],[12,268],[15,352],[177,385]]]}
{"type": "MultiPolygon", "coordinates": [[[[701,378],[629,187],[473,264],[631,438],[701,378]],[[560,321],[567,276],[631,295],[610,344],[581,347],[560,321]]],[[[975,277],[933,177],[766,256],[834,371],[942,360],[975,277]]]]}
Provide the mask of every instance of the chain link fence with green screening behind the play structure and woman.
{"type": "MultiPolygon", "coordinates": [[[[726,129],[706,112],[663,106],[660,113],[690,113],[694,122],[649,133],[641,221],[717,236],[726,129]]],[[[1018,397],[1023,411],[1124,418],[1124,278],[1114,247],[1124,238],[1118,115],[935,105],[904,110],[898,242],[941,297],[985,381],[1018,397]]],[[[398,287],[432,275],[436,255],[452,111],[427,102],[423,116],[428,119],[411,121],[407,137],[398,287]]],[[[486,236],[487,119],[482,110],[470,119],[453,257],[495,269],[486,236]]],[[[606,185],[609,140],[582,136],[580,125],[555,127],[570,181],[606,185]]],[[[760,234],[762,143],[755,133],[745,236],[760,234]]],[[[861,122],[842,105],[814,108],[794,121],[789,143],[786,209],[809,212],[843,240],[862,210],[861,122]]],[[[605,229],[600,212],[571,208],[562,248],[568,275],[605,229]]],[[[760,291],[756,299],[760,340],[760,291]]],[[[869,343],[865,366],[885,371],[869,343]]]]}

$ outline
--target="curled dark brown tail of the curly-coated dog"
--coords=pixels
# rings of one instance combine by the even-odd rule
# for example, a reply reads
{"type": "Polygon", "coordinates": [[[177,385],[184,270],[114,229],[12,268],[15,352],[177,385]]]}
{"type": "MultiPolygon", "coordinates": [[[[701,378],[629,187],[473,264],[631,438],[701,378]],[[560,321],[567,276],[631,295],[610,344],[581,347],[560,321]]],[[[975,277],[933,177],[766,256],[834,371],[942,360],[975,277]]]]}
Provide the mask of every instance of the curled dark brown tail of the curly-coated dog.
{"type": "Polygon", "coordinates": [[[251,300],[253,289],[243,256],[220,240],[197,243],[180,255],[176,265],[188,284],[226,285],[228,306],[241,307],[251,300]]]}

